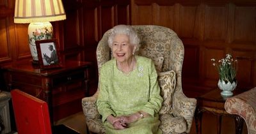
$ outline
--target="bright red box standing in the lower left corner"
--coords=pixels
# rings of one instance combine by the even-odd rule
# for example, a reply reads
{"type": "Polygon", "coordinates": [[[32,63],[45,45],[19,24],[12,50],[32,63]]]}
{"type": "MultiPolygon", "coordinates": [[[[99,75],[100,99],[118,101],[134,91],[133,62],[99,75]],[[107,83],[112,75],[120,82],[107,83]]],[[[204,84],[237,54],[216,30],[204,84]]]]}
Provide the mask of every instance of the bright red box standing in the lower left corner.
{"type": "Polygon", "coordinates": [[[51,129],[48,105],[34,96],[14,89],[11,91],[15,122],[19,134],[79,134],[64,125],[51,129]]]}

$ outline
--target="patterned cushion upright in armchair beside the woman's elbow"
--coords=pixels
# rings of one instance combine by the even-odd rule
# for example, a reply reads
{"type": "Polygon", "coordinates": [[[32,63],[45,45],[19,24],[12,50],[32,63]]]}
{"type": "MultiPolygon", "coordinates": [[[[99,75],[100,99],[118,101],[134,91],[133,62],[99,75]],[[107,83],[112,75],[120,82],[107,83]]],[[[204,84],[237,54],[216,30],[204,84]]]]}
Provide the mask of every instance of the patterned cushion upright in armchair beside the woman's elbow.
{"type": "Polygon", "coordinates": [[[162,107],[159,110],[159,114],[172,114],[172,96],[175,89],[175,72],[166,71],[158,73],[158,82],[160,86],[160,94],[163,97],[162,107]]]}

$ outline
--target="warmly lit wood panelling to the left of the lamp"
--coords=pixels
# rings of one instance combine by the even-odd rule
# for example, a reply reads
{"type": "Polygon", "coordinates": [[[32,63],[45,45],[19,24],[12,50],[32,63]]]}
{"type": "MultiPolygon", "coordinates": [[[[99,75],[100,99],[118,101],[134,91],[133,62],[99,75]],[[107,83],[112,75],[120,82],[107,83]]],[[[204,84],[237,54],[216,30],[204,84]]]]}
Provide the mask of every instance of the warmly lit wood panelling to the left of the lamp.
{"type": "Polygon", "coordinates": [[[16,31],[17,26],[13,22],[14,2],[14,0],[10,0],[0,3],[0,66],[1,63],[12,63],[31,57],[27,43],[28,26],[26,31],[16,31]],[[20,39],[21,36],[25,36],[25,38],[20,39]],[[26,40],[24,41],[24,39],[26,40]],[[17,45],[17,43],[20,44],[17,45]]]}

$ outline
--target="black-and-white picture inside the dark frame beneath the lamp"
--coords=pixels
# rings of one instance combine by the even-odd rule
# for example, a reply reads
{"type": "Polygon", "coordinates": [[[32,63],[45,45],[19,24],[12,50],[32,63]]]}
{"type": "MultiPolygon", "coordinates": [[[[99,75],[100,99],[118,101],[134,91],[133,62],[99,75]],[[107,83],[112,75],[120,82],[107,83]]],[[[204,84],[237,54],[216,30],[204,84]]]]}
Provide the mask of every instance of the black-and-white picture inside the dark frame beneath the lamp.
{"type": "Polygon", "coordinates": [[[56,47],[53,42],[40,43],[40,47],[41,47],[44,66],[51,65],[51,64],[58,64],[56,47]]]}

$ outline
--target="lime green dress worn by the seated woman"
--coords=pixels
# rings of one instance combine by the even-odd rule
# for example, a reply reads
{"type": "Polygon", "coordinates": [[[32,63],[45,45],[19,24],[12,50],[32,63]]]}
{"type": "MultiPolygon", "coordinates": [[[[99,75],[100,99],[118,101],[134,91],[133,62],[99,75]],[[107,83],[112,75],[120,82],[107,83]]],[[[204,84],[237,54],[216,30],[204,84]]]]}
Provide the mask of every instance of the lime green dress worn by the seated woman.
{"type": "Polygon", "coordinates": [[[157,112],[163,98],[157,83],[157,73],[151,59],[136,56],[136,68],[129,74],[118,70],[116,60],[111,59],[100,70],[100,93],[97,108],[102,115],[106,133],[150,134],[162,133],[157,112]],[[115,130],[106,121],[108,115],[129,115],[143,110],[150,116],[129,124],[124,130],[115,130]]]}

